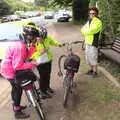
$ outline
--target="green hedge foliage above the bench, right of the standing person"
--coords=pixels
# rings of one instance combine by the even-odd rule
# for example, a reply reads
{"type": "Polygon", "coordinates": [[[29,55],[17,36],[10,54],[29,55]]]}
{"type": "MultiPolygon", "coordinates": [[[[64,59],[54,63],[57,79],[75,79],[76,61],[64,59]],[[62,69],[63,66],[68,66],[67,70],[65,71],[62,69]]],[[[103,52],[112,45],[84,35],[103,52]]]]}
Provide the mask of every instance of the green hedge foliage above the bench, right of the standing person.
{"type": "Polygon", "coordinates": [[[119,0],[91,0],[90,5],[97,2],[99,15],[103,21],[104,32],[109,38],[120,36],[120,1],[119,0]]]}

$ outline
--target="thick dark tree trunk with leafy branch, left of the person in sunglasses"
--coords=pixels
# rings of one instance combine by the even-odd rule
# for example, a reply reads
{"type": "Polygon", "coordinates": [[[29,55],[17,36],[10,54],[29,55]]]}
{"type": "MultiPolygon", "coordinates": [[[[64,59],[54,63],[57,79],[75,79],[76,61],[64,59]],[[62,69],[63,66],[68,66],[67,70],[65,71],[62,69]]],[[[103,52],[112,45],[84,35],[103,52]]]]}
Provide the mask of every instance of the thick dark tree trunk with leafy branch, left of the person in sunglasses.
{"type": "Polygon", "coordinates": [[[53,0],[52,4],[71,7],[74,22],[83,22],[87,19],[89,0],[53,0]]]}

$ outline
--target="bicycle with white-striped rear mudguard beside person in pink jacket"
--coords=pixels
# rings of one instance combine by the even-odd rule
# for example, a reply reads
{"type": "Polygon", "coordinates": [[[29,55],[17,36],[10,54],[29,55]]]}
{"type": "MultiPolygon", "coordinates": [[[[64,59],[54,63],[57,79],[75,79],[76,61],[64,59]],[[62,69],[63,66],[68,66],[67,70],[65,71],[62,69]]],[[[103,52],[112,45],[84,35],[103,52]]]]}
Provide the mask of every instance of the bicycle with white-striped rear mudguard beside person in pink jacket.
{"type": "MultiPolygon", "coordinates": [[[[33,71],[29,71],[30,73],[28,73],[27,71],[22,71],[21,74],[33,74],[33,76],[35,76],[35,78],[38,78],[38,75],[35,74],[35,72],[33,71]]],[[[46,120],[45,114],[44,114],[44,109],[42,107],[42,102],[41,102],[41,98],[40,98],[40,92],[39,89],[37,89],[37,86],[35,84],[37,80],[33,80],[32,77],[29,79],[24,79],[21,81],[20,85],[23,88],[23,90],[25,91],[25,95],[27,96],[28,102],[30,103],[30,105],[32,105],[38,116],[39,116],[39,120],[46,120]]]]}

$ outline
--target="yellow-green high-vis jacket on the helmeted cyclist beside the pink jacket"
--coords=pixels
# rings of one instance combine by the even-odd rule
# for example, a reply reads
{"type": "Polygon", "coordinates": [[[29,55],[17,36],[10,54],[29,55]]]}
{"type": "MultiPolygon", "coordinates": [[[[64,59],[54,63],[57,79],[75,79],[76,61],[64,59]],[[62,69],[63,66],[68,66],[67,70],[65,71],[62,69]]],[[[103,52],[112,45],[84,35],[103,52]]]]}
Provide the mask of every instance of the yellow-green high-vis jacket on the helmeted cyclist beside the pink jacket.
{"type": "Polygon", "coordinates": [[[48,55],[48,59],[51,61],[52,60],[52,52],[50,50],[50,46],[59,46],[61,45],[60,42],[54,40],[52,37],[48,36],[43,43],[36,43],[35,44],[35,49],[36,51],[33,53],[33,55],[31,56],[31,59],[36,60],[37,58],[40,57],[41,55],[41,50],[42,49],[46,49],[47,50],[47,55],[48,55]]]}

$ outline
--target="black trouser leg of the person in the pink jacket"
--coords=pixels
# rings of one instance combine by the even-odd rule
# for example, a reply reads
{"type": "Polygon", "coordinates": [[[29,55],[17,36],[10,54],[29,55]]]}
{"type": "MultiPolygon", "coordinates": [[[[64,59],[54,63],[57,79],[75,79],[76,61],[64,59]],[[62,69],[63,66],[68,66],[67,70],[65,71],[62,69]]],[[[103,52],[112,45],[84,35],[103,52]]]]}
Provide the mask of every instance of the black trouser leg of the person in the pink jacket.
{"type": "Polygon", "coordinates": [[[15,106],[20,106],[20,102],[21,102],[21,96],[22,96],[22,88],[20,87],[20,85],[14,83],[14,80],[9,80],[12,90],[11,90],[11,97],[13,100],[13,105],[15,106]]]}

